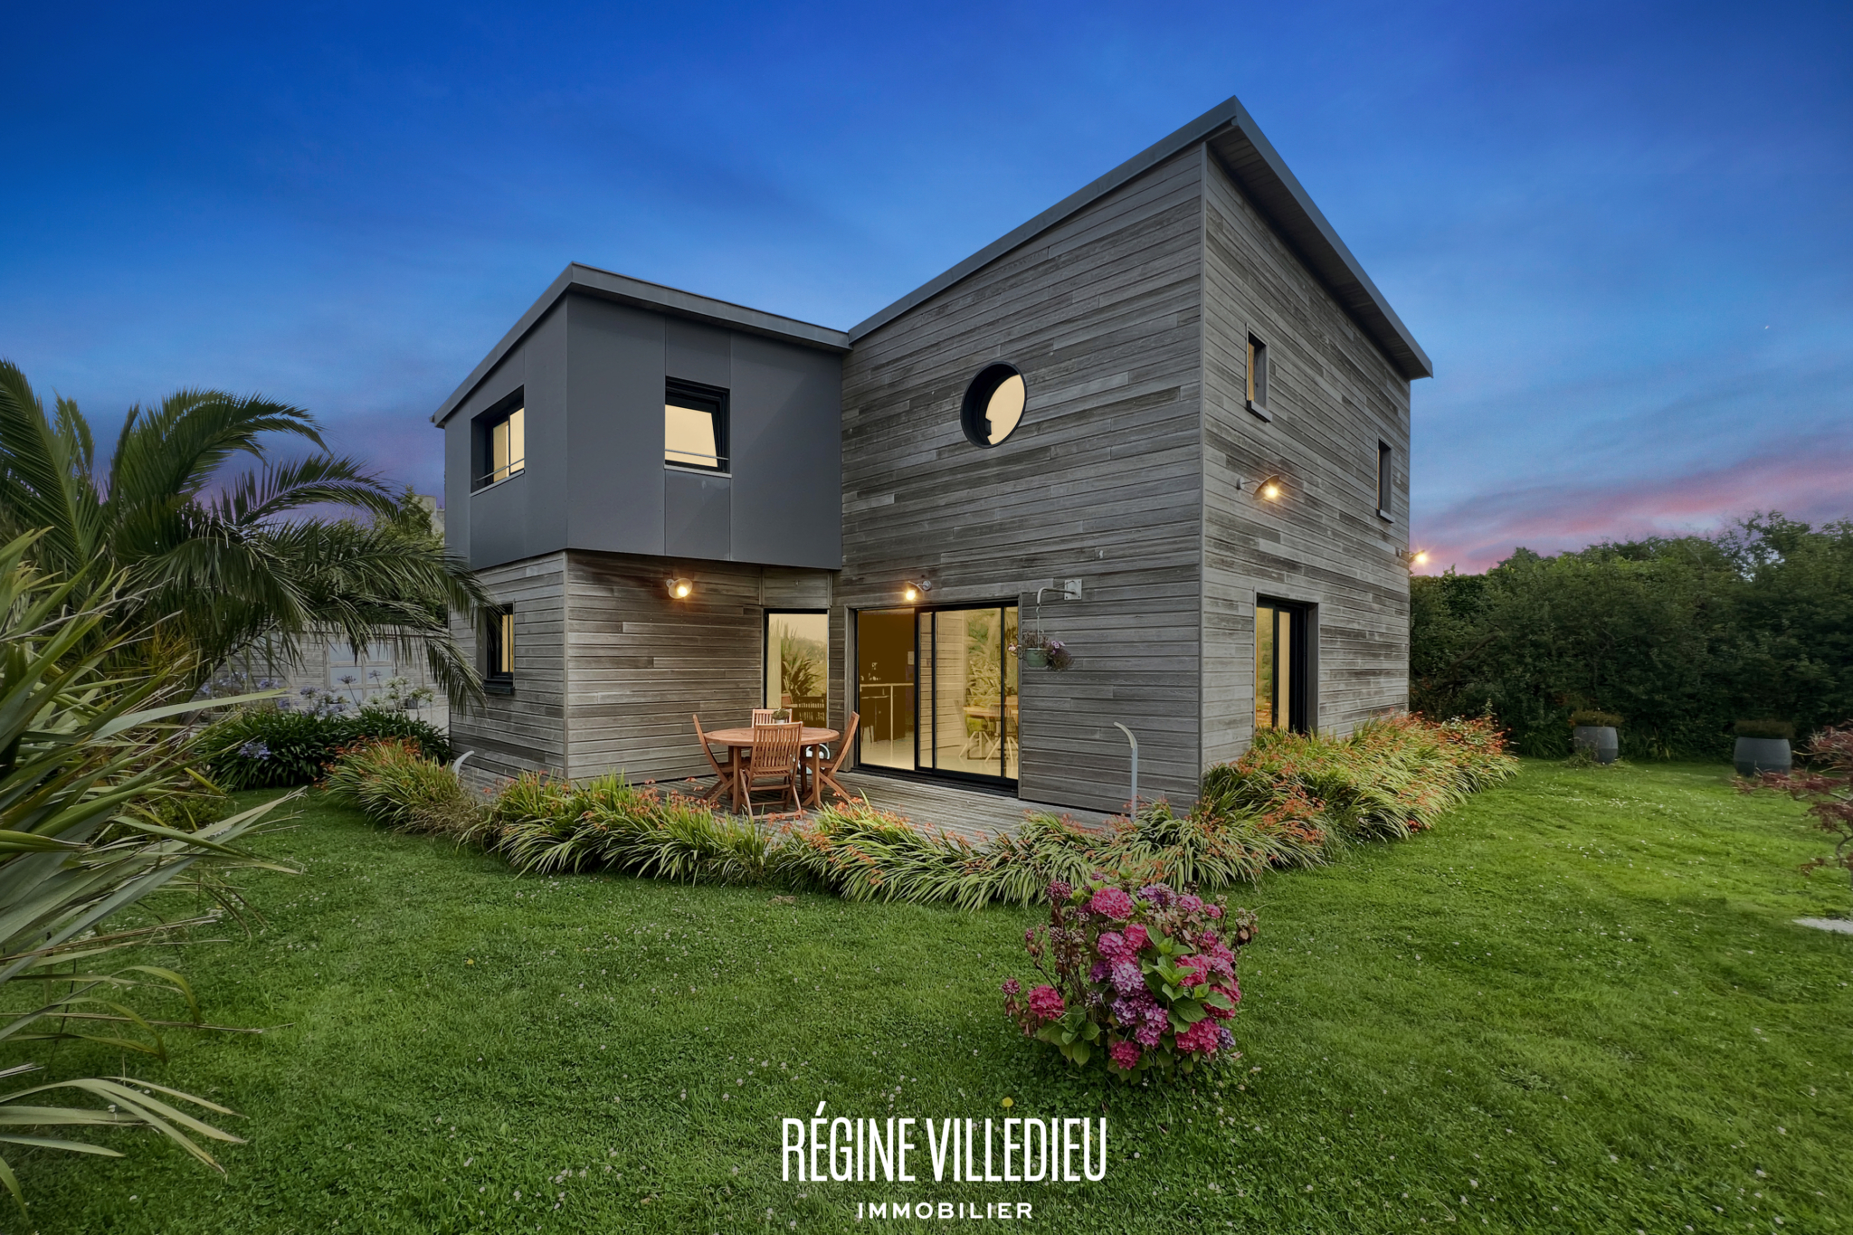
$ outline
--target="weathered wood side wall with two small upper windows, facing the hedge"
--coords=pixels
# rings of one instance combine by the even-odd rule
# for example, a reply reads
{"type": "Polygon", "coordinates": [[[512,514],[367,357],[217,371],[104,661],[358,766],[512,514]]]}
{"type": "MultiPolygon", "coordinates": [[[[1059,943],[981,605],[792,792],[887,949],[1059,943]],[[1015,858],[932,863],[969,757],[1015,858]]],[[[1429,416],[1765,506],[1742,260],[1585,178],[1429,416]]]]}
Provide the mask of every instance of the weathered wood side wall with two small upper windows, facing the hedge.
{"type": "Polygon", "coordinates": [[[1203,761],[1254,726],[1254,598],[1319,607],[1319,728],[1349,733],[1408,700],[1408,380],[1204,161],[1203,761]],[[1247,411],[1247,339],[1267,344],[1267,409],[1247,411]],[[1377,444],[1393,450],[1392,520],[1377,444]],[[1282,478],[1279,502],[1254,481],[1282,478]]]}

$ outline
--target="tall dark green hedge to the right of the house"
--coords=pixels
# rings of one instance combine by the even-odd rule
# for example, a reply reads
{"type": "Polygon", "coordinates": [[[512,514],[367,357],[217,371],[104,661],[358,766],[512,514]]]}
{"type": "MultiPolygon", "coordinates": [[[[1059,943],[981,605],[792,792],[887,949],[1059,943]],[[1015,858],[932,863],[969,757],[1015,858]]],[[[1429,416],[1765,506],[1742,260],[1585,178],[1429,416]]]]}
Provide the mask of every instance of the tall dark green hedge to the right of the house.
{"type": "Polygon", "coordinates": [[[1532,755],[1568,754],[1569,713],[1599,707],[1636,759],[1727,757],[1740,718],[1853,718],[1853,522],[1762,515],[1416,578],[1410,705],[1490,711],[1532,755]]]}

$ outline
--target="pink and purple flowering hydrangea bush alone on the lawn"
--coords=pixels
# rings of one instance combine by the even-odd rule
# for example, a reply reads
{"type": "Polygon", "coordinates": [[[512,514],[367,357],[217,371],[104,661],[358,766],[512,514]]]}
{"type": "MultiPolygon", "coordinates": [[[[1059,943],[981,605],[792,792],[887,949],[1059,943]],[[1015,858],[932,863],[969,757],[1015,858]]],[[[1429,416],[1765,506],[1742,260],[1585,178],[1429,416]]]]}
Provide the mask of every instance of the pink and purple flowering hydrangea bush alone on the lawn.
{"type": "Polygon", "coordinates": [[[1049,924],[1025,935],[1043,983],[1004,981],[1004,1011],[1025,1037],[1071,1065],[1093,1061],[1123,1081],[1236,1059],[1229,1020],[1242,987],[1236,954],[1254,915],[1229,913],[1154,883],[1049,885],[1049,924]]]}

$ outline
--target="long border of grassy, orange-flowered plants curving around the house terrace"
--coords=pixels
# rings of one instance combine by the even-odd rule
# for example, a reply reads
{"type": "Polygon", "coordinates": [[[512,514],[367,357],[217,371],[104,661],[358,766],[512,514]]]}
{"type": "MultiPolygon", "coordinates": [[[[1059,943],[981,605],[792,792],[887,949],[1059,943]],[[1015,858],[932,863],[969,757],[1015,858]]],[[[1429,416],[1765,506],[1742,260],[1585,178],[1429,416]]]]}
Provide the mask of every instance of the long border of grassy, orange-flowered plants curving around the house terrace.
{"type": "MultiPolygon", "coordinates": [[[[1158,802],[1104,833],[1028,815],[1015,835],[973,844],[862,804],[763,826],[621,778],[573,785],[523,776],[493,792],[480,813],[445,807],[439,817],[460,841],[526,872],[615,870],[977,909],[1032,904],[1051,879],[1077,885],[1101,870],[1214,891],[1271,868],[1317,867],[1349,841],[1431,828],[1514,768],[1484,720],[1399,717],[1347,739],[1262,733],[1242,759],[1204,776],[1190,813],[1158,802]]],[[[400,798],[439,792],[434,781],[435,774],[408,778],[404,752],[382,763],[359,748],[334,767],[328,783],[380,822],[404,828],[411,805],[400,798]]],[[[419,818],[421,828],[434,826],[430,809],[419,818]]]]}

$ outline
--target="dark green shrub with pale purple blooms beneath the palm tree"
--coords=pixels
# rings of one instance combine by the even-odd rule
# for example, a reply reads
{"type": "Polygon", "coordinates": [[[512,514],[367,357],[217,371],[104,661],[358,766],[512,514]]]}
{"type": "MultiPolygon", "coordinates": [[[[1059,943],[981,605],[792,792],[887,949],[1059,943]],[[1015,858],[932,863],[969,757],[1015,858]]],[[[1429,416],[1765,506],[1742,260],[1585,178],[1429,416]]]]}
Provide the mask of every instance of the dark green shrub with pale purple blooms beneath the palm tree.
{"type": "Polygon", "coordinates": [[[321,780],[345,748],[378,739],[410,741],[437,763],[450,759],[450,742],[437,726],[384,707],[354,713],[245,707],[208,726],[200,752],[226,789],[280,789],[321,780]]]}

